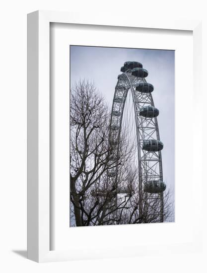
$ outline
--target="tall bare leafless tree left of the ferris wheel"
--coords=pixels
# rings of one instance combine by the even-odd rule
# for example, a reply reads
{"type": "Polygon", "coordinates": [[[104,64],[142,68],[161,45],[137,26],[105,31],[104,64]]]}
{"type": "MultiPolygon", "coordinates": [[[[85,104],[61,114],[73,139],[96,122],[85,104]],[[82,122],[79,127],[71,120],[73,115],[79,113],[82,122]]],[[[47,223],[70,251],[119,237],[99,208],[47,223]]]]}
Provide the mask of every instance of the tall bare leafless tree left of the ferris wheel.
{"type": "Polygon", "coordinates": [[[108,127],[108,108],[94,84],[76,83],[70,105],[70,198],[77,226],[89,225],[99,205],[91,192],[106,176],[108,127]]]}

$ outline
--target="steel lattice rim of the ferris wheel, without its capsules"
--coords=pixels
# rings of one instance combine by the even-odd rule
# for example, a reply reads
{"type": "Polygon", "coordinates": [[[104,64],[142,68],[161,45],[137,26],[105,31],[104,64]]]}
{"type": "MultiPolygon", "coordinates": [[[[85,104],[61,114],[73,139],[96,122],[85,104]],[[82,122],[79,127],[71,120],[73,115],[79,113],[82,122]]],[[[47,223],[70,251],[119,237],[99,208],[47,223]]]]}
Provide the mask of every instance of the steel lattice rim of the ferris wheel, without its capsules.
{"type": "MultiPolygon", "coordinates": [[[[135,112],[135,126],[137,131],[139,189],[138,210],[140,216],[143,213],[142,194],[145,184],[150,180],[163,181],[161,151],[149,152],[142,149],[142,145],[145,140],[160,140],[157,118],[144,118],[139,115],[141,107],[154,106],[151,93],[142,93],[136,90],[137,84],[142,82],[146,82],[145,78],[132,76],[130,69],[119,75],[118,82],[115,87],[109,133],[109,144],[113,146],[113,155],[118,157],[123,112],[127,95],[129,92],[131,92],[135,112]]],[[[114,180],[115,183],[117,183],[118,169],[119,167],[117,166],[116,175],[109,178],[111,181],[114,180]]],[[[160,222],[163,222],[163,192],[157,194],[145,194],[147,195],[147,200],[160,200],[160,222]]]]}

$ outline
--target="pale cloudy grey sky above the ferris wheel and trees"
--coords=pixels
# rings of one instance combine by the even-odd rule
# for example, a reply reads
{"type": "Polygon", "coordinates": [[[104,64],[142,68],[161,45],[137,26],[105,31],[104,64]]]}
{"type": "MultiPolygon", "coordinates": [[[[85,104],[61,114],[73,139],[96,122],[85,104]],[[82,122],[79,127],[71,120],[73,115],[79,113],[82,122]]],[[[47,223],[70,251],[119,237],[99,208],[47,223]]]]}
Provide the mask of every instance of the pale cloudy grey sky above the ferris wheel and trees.
{"type": "Polygon", "coordinates": [[[70,84],[80,78],[94,81],[110,107],[120,68],[126,61],[138,61],[148,70],[146,81],[152,83],[162,150],[163,180],[174,196],[175,149],[175,55],[171,50],[70,46],[70,84]]]}

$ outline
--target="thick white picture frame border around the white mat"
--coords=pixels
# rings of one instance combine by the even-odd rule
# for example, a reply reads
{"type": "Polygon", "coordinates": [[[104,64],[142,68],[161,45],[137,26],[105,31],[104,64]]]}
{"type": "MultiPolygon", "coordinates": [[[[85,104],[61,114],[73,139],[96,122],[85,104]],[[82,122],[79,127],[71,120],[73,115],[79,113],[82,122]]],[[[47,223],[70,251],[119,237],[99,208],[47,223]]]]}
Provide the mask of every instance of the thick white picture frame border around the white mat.
{"type": "MultiPolygon", "coordinates": [[[[36,262],[67,261],[78,259],[69,251],[50,250],[50,23],[110,25],[151,29],[193,31],[194,92],[202,93],[201,82],[201,21],[159,21],[96,14],[74,14],[56,11],[35,11],[28,14],[28,258],[36,262]]],[[[199,108],[199,107],[198,107],[199,108]]],[[[199,109],[197,109],[199,111],[199,109]]],[[[201,191],[201,175],[198,178],[201,191]]],[[[197,196],[199,198],[199,195],[197,196]]],[[[198,200],[198,199],[197,199],[198,200]]],[[[200,206],[200,203],[197,203],[200,206]]],[[[198,214],[197,228],[201,229],[198,214]]],[[[198,230],[197,229],[197,233],[198,230]]],[[[174,250],[201,248],[201,236],[193,237],[192,244],[178,245],[174,250]]],[[[143,247],[135,255],[152,253],[143,247]]],[[[170,247],[169,247],[170,250],[170,247]]],[[[114,251],[111,250],[111,252],[114,251]]],[[[172,249],[170,250],[172,251],[172,249]]],[[[110,250],[107,251],[110,257],[110,250]]],[[[106,253],[100,253],[102,257],[106,253]]],[[[100,258],[97,255],[96,258],[100,258]]],[[[121,253],[117,252],[119,257],[121,253]]],[[[81,257],[92,258],[87,249],[81,257]]],[[[114,256],[113,256],[114,257],[114,256]]]]}

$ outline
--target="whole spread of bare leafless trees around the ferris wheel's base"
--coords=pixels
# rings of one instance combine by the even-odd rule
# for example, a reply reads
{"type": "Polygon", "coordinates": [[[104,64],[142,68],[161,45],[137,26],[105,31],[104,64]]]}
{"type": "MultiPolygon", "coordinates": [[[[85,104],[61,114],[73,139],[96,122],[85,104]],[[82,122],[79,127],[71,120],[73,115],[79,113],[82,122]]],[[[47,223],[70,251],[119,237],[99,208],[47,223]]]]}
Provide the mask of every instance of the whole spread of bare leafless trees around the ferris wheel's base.
{"type": "MultiPolygon", "coordinates": [[[[159,222],[159,200],[149,199],[144,189],[139,200],[138,169],[132,164],[136,145],[129,148],[127,132],[122,132],[115,153],[109,125],[108,107],[94,84],[75,83],[70,96],[70,214],[75,225],[159,222]]],[[[168,191],[164,220],[170,217],[171,207],[168,191]]]]}

